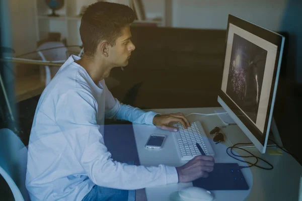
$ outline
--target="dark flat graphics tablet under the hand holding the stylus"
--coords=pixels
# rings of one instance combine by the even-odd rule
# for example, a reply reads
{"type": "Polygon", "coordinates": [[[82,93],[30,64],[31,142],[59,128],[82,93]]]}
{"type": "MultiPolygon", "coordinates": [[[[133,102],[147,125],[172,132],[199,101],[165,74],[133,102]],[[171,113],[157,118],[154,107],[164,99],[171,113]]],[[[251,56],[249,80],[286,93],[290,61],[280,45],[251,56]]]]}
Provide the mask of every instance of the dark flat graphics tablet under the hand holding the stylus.
{"type": "Polygon", "coordinates": [[[248,190],[249,186],[237,163],[215,163],[207,178],[198,178],[193,186],[206,190],[248,190]]]}

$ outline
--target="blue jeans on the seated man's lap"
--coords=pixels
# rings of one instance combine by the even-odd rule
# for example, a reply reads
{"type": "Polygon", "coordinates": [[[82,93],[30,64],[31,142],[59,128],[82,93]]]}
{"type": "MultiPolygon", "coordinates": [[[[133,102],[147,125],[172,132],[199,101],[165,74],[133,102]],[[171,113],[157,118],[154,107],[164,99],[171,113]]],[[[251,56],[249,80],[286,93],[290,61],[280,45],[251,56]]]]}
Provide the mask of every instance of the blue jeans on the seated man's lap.
{"type": "Polygon", "coordinates": [[[134,201],[135,190],[121,190],[94,185],[82,201],[134,201]]]}

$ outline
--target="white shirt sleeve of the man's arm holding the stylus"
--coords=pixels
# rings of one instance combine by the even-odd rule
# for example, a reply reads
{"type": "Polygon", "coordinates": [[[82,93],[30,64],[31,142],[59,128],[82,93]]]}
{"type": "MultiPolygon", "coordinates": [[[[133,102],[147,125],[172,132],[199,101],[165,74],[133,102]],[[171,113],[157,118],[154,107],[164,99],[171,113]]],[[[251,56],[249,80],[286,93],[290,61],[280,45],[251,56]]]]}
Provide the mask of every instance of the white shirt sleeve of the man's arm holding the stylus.
{"type": "Polygon", "coordinates": [[[178,182],[175,167],[136,166],[113,161],[97,125],[97,102],[84,90],[70,90],[56,105],[55,120],[75,157],[97,185],[139,189],[178,182]]]}

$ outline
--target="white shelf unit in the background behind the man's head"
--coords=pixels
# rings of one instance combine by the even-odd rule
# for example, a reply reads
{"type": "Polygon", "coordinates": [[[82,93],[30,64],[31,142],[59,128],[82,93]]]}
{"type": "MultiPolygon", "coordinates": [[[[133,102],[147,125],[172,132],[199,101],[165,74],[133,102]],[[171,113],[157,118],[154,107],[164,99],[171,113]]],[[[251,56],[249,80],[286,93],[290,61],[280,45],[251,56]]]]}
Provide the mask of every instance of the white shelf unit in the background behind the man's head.
{"type": "MultiPolygon", "coordinates": [[[[49,17],[51,9],[46,5],[45,0],[35,0],[36,32],[37,42],[47,39],[49,32],[60,32],[61,39],[66,39],[67,45],[82,45],[80,37],[81,9],[98,0],[64,0],[62,9],[55,13],[59,17],[49,17]]],[[[146,20],[135,20],[134,25],[148,25],[156,23],[159,27],[166,26],[166,5],[171,0],[142,0],[146,20]],[[161,20],[155,21],[154,18],[161,20]]],[[[107,2],[125,4],[130,6],[129,0],[108,0],[107,2]]]]}

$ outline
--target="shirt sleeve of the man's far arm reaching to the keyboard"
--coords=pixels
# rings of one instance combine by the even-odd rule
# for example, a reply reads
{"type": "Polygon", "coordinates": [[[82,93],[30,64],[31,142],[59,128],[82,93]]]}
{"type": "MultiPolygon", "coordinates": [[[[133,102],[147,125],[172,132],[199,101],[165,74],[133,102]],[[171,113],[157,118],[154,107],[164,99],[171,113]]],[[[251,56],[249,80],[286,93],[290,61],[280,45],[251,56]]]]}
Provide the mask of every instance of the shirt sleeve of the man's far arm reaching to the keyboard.
{"type": "Polygon", "coordinates": [[[144,112],[139,108],[122,104],[113,97],[107,86],[104,87],[106,93],[105,117],[108,119],[127,120],[136,124],[153,125],[154,116],[159,113],[144,112]]]}

